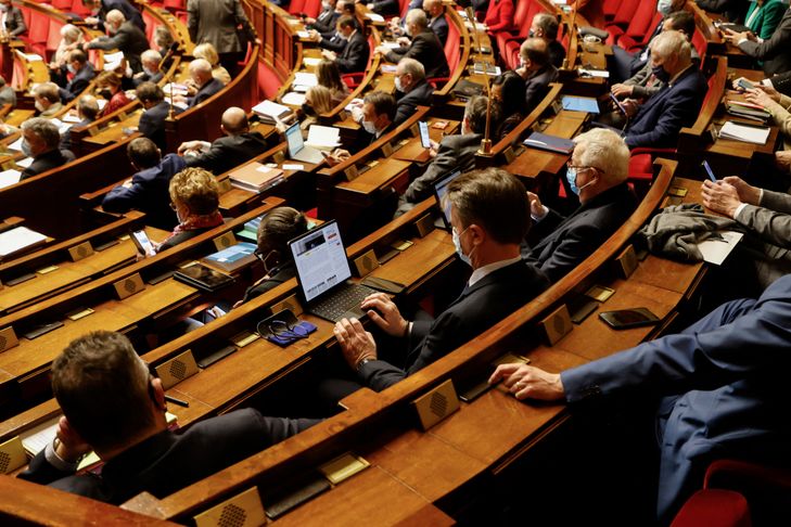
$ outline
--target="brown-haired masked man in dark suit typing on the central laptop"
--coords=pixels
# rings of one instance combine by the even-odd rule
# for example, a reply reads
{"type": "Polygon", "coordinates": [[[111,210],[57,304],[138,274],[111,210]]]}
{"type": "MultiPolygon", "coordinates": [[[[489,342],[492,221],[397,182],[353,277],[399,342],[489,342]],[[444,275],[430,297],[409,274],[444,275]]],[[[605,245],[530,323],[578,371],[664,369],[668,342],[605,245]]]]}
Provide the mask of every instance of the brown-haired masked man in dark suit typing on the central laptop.
{"type": "MultiPolygon", "coordinates": [[[[530,204],[516,178],[497,168],[474,170],[448,185],[456,250],[472,267],[461,295],[435,320],[409,322],[387,295],[362,301],[371,321],[405,339],[398,364],[379,359],[377,340],[357,319],[335,324],[335,338],[356,382],[381,391],[445,357],[521,308],[548,286],[547,278],[522,260],[519,244],[530,228],[530,204]]],[[[345,395],[355,387],[337,388],[345,395]]]]}

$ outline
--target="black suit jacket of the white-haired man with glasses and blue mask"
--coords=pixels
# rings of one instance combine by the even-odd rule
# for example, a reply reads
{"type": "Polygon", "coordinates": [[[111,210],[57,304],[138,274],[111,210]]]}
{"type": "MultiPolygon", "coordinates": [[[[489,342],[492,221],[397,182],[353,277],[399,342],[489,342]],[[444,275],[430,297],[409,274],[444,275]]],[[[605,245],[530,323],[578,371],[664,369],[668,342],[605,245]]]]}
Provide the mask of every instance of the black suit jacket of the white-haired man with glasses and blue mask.
{"type": "Polygon", "coordinates": [[[635,195],[622,183],[581,205],[567,218],[550,210],[533,229],[540,242],[534,247],[523,245],[522,255],[554,283],[599,248],[636,207],[635,195]]]}

